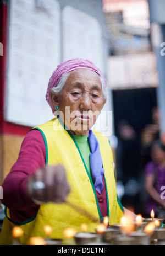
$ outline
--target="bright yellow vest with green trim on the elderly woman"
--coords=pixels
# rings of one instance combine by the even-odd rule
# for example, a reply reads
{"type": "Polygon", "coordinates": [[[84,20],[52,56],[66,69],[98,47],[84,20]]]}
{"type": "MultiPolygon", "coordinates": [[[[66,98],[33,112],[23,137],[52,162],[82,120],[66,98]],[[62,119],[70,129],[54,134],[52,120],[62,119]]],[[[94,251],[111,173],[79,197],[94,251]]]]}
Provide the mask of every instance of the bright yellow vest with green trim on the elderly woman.
{"type": "MultiPolygon", "coordinates": [[[[60,163],[67,170],[67,179],[71,188],[67,201],[70,204],[48,203],[40,205],[36,216],[23,222],[11,220],[9,209],[5,209],[0,244],[12,243],[11,231],[14,226],[18,225],[24,230],[20,242],[27,244],[32,236],[46,236],[43,231],[43,226],[46,224],[53,227],[52,238],[63,239],[63,231],[67,227],[74,227],[79,232],[81,231],[81,223],[87,223],[88,231],[95,232],[95,228],[103,220],[94,184],[70,131],[65,130],[57,118],[37,126],[35,129],[41,131],[45,141],[46,164],[60,163]],[[74,209],[70,206],[71,204],[77,207],[80,205],[81,210],[74,209]]],[[[123,207],[116,191],[112,151],[108,139],[101,132],[94,131],[94,134],[100,143],[100,152],[105,169],[109,224],[116,224],[123,216],[123,207]]]]}

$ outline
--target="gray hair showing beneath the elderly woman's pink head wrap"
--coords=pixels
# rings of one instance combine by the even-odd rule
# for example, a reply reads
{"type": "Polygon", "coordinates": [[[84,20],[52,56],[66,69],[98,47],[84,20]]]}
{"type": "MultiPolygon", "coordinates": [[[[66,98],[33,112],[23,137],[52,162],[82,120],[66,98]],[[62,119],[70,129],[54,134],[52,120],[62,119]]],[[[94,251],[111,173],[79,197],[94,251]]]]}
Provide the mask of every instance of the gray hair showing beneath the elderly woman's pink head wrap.
{"type": "MultiPolygon", "coordinates": [[[[62,93],[62,88],[64,87],[68,77],[70,75],[70,72],[63,74],[63,76],[61,77],[61,79],[59,80],[58,84],[56,87],[53,87],[51,89],[51,92],[56,93],[58,95],[60,95],[62,93]]],[[[102,94],[103,94],[103,98],[107,99],[107,93],[105,90],[105,81],[103,81],[103,78],[98,74],[98,76],[100,77],[100,81],[102,84],[102,94]]]]}

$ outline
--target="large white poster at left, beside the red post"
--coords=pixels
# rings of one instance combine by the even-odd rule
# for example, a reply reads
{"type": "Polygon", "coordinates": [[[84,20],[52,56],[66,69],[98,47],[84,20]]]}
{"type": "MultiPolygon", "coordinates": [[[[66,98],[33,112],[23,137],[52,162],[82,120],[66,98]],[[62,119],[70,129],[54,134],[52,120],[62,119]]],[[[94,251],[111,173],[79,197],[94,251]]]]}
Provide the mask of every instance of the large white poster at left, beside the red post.
{"type": "Polygon", "coordinates": [[[55,0],[10,1],[5,120],[35,126],[52,119],[46,90],[61,62],[61,9],[55,0]]]}

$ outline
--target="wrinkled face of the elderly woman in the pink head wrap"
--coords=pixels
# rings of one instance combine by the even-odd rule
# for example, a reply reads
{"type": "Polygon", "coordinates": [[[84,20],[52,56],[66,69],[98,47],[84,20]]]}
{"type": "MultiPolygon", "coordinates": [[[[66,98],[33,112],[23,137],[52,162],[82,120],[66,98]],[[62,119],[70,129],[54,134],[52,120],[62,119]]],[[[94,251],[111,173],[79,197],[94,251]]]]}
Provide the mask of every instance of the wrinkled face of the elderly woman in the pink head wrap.
{"type": "Polygon", "coordinates": [[[72,134],[88,135],[106,99],[100,77],[94,71],[78,69],[70,75],[57,96],[59,115],[72,134]]]}

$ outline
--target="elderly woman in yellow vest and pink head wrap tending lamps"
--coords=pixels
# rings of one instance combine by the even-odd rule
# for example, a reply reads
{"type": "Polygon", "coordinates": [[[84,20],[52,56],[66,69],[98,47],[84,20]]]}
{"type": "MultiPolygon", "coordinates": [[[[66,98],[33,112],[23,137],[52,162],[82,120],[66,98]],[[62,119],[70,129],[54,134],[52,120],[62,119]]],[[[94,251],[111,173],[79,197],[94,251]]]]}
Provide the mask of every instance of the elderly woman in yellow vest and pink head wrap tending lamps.
{"type": "Polygon", "coordinates": [[[53,227],[53,238],[63,238],[65,228],[80,231],[81,223],[94,232],[105,216],[109,224],[119,222],[123,207],[111,147],[91,130],[106,103],[105,86],[100,70],[81,58],[53,72],[46,99],[57,117],[29,131],[3,182],[1,243],[11,243],[15,225],[23,228],[26,244],[32,236],[45,237],[45,224],[53,227]]]}

